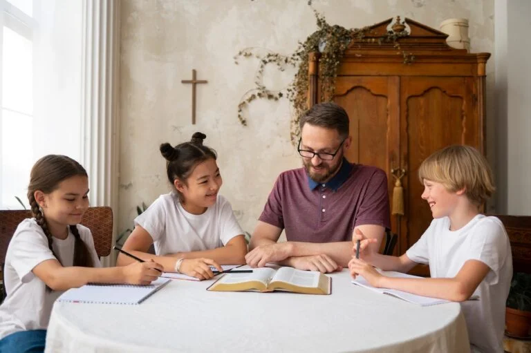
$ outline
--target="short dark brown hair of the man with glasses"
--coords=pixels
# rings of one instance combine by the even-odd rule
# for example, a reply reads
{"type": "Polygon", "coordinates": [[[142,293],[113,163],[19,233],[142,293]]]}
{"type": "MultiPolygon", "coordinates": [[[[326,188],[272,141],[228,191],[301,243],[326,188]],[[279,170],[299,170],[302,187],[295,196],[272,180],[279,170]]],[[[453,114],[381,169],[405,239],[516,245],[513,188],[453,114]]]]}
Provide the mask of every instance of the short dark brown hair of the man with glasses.
{"type": "Polygon", "coordinates": [[[299,121],[301,131],[306,123],[323,128],[333,128],[339,133],[341,139],[348,137],[348,115],[344,108],[333,102],[315,104],[308,109],[299,121]]]}

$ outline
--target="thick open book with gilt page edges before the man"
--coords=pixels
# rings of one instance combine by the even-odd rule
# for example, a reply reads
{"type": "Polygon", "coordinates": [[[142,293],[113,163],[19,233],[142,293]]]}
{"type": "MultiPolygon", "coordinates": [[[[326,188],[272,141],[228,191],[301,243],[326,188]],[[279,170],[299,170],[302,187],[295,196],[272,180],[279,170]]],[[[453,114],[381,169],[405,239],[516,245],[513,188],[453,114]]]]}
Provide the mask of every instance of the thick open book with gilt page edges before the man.
{"type": "Polygon", "coordinates": [[[318,271],[302,271],[292,267],[277,270],[264,267],[251,274],[225,274],[207,288],[218,292],[272,292],[274,290],[304,294],[330,294],[332,280],[318,271]]]}

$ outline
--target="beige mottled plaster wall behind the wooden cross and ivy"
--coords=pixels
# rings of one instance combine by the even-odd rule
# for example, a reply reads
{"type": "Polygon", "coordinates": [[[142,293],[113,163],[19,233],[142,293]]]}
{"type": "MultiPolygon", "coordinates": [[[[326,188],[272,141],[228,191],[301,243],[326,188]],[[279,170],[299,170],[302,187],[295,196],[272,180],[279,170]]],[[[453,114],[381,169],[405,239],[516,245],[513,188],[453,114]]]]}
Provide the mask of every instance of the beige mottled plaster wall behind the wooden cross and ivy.
{"type": "MultiPolygon", "coordinates": [[[[290,104],[253,102],[248,126],[236,106],[253,87],[255,59],[234,64],[246,47],[290,54],[316,30],[306,0],[124,0],[120,62],[120,194],[118,230],[131,227],[136,205],[169,191],[161,142],[178,144],[202,131],[218,151],[221,193],[232,202],[243,229],[252,231],[277,175],[301,165],[290,144],[290,104]],[[181,84],[192,68],[208,84],[181,84]]],[[[493,52],[492,0],[314,0],[329,23],[360,28],[400,15],[438,29],[449,18],[468,18],[472,52],[493,52]]],[[[492,96],[494,57],[487,66],[492,96]]],[[[295,71],[266,70],[265,84],[282,88],[295,71]]],[[[487,96],[488,98],[488,96],[487,96]]],[[[489,99],[491,102],[492,99],[489,99]]],[[[487,111],[492,111],[491,103],[487,111]]],[[[487,117],[487,139],[493,135],[487,117]]],[[[492,146],[488,153],[491,155],[492,146]]]]}

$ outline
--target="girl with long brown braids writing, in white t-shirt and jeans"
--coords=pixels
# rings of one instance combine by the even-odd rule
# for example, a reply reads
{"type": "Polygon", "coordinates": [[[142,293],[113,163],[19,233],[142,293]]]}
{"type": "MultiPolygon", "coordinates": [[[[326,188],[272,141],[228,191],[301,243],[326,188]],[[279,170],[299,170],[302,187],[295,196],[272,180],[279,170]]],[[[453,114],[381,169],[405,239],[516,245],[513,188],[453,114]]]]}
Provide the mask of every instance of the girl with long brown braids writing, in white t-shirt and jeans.
{"type": "Polygon", "coordinates": [[[42,352],[52,305],[63,291],[86,283],[149,284],[158,263],[100,268],[91,231],[85,169],[64,155],[46,155],[31,170],[23,220],[9,243],[4,269],[8,296],[0,306],[0,352],[42,352]]]}

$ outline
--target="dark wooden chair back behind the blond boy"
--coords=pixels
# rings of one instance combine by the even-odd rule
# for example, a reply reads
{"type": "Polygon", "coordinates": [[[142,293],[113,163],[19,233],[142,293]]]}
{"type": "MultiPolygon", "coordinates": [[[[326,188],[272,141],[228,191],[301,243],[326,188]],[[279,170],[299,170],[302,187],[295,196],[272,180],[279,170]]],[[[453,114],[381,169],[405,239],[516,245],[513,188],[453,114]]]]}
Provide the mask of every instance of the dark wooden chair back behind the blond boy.
{"type": "Polygon", "coordinates": [[[509,236],[512,270],[531,273],[531,216],[489,215],[501,220],[509,236]]]}

